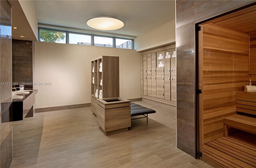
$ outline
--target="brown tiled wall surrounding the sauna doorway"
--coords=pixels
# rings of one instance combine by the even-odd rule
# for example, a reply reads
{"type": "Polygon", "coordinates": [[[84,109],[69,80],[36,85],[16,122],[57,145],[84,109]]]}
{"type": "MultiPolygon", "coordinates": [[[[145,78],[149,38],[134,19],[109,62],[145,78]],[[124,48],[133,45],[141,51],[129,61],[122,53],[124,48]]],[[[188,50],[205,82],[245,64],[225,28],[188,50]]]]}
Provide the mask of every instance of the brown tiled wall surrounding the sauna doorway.
{"type": "Polygon", "coordinates": [[[195,24],[255,2],[176,0],[177,147],[196,157],[195,24]]]}

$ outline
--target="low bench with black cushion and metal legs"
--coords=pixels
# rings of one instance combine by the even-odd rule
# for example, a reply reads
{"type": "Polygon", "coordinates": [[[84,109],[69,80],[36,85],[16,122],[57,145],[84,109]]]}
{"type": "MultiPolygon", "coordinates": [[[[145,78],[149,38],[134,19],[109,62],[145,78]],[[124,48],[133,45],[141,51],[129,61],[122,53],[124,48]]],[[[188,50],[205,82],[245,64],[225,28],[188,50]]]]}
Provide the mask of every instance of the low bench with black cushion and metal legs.
{"type": "Polygon", "coordinates": [[[151,113],[156,113],[156,111],[135,103],[131,104],[131,117],[134,117],[137,115],[144,116],[144,117],[133,118],[133,119],[147,118],[147,122],[148,122],[148,114],[151,114],[151,113]]]}

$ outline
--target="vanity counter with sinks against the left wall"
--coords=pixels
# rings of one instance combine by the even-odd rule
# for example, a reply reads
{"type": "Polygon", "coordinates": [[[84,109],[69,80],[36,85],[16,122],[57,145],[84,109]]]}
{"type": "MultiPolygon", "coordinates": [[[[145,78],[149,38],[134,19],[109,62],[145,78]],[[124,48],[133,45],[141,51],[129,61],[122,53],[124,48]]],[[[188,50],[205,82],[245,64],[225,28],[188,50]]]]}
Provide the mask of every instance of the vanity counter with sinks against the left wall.
{"type": "Polygon", "coordinates": [[[20,121],[25,117],[33,117],[33,106],[38,90],[30,91],[29,94],[19,94],[22,99],[12,100],[12,121],[20,121]]]}

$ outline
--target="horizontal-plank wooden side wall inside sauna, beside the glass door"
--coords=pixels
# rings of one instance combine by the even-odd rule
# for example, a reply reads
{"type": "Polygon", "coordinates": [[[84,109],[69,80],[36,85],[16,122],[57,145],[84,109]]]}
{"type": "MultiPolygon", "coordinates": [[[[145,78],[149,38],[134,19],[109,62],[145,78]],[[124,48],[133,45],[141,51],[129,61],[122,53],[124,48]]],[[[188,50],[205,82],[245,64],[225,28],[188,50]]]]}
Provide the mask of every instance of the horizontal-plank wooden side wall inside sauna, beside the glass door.
{"type": "Polygon", "coordinates": [[[236,91],[248,82],[248,38],[203,25],[203,143],[222,137],[223,118],[236,111],[236,91]]]}

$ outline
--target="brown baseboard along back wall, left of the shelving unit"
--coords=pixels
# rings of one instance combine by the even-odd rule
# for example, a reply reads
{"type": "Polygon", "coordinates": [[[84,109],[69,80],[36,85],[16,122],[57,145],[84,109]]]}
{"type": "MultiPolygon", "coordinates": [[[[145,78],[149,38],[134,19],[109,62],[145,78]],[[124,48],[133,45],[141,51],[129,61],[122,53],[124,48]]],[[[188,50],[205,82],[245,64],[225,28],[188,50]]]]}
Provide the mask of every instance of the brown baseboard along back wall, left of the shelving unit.
{"type": "Polygon", "coordinates": [[[91,107],[90,103],[85,104],[74,104],[74,105],[63,105],[63,106],[55,106],[55,107],[44,107],[44,108],[37,108],[36,113],[42,113],[46,111],[57,111],[57,110],[64,110],[64,109],[76,109],[82,107],[91,107]]]}

